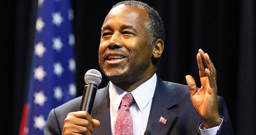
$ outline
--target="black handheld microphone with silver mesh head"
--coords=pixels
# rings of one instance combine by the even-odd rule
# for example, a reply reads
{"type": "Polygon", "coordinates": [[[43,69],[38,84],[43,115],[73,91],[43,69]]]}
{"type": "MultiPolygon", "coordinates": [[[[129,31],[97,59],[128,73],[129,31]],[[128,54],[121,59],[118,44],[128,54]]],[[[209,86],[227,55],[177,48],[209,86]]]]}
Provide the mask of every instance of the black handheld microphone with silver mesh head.
{"type": "Polygon", "coordinates": [[[96,92],[101,82],[102,74],[98,70],[91,69],[85,73],[85,88],[80,111],[87,111],[91,115],[96,92]]]}

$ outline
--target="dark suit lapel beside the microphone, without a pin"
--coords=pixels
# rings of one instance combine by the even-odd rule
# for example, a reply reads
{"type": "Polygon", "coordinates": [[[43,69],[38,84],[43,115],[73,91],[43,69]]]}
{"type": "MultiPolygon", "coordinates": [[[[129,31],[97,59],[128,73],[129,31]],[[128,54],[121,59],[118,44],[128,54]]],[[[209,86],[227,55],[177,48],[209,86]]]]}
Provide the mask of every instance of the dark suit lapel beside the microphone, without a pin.
{"type": "Polygon", "coordinates": [[[92,118],[99,120],[100,126],[95,128],[92,135],[111,135],[110,126],[110,99],[108,93],[109,84],[97,91],[93,105],[92,118]]]}

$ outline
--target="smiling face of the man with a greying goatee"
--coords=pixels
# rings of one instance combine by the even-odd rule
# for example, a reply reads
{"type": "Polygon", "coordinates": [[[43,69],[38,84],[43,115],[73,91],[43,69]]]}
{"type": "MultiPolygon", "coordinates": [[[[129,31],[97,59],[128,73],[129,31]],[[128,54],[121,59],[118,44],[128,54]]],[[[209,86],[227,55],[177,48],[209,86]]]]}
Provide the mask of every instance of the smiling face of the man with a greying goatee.
{"type": "Polygon", "coordinates": [[[111,81],[140,79],[152,71],[152,46],[147,45],[143,9],[118,5],[108,13],[102,26],[99,65],[111,81]]]}

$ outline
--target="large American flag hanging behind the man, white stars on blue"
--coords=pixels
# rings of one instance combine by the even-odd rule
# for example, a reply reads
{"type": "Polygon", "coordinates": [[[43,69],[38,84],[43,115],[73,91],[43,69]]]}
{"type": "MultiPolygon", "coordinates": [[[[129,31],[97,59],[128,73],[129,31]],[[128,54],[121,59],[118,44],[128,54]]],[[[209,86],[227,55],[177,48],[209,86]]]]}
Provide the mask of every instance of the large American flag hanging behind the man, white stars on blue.
{"type": "Polygon", "coordinates": [[[76,97],[70,0],[38,0],[27,101],[20,135],[43,135],[51,109],[76,97]]]}

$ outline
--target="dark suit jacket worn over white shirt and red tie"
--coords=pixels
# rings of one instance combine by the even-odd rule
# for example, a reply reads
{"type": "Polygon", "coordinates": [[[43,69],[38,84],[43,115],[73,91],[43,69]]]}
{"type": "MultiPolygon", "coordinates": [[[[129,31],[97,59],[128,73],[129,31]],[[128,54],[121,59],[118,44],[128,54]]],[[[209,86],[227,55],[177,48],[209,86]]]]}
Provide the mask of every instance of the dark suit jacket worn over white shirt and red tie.
{"type": "MultiPolygon", "coordinates": [[[[69,112],[79,111],[81,99],[82,97],[78,97],[51,110],[44,134],[61,135],[64,119],[69,112]]],[[[218,97],[218,109],[220,116],[224,118],[218,134],[234,134],[222,97],[218,97]]],[[[93,135],[111,135],[108,86],[97,91],[91,116],[100,121],[100,126],[94,129],[93,135]]],[[[198,135],[199,122],[201,117],[191,103],[188,86],[165,82],[157,77],[144,135],[198,135]],[[161,116],[167,119],[166,124],[159,122],[161,116]]]]}

